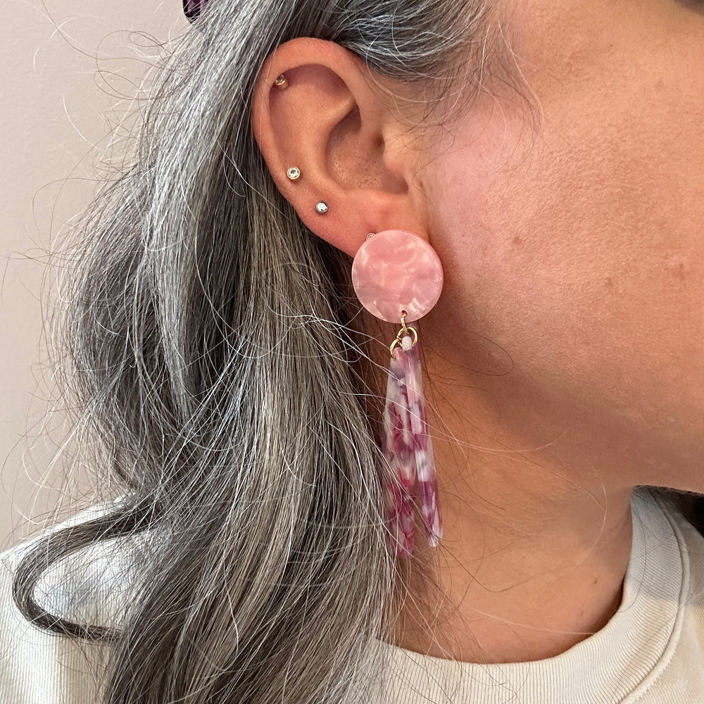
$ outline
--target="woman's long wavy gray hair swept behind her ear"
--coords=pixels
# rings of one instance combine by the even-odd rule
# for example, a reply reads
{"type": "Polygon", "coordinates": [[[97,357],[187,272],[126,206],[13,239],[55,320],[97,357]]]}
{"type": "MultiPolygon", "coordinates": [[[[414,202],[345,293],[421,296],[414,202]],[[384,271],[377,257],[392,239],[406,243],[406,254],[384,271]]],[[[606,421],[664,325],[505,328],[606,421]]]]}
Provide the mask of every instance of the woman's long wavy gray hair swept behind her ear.
{"type": "Polygon", "coordinates": [[[277,191],[250,101],[265,57],[294,37],[439,95],[488,12],[211,0],[164,66],[132,163],[80,228],[62,333],[80,447],[124,500],[49,536],[14,584],[32,622],[112,641],[106,703],[368,698],[406,586],[384,526],[368,335],[351,258],[277,191]],[[34,600],[48,565],[145,531],[119,628],[34,600]]]}

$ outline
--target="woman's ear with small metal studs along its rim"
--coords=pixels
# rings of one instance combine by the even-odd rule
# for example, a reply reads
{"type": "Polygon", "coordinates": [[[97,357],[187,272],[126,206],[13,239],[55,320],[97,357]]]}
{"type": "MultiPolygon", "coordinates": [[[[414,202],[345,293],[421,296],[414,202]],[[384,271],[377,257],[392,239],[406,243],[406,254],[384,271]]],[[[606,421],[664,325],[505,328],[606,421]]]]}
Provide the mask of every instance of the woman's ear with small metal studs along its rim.
{"type": "Polygon", "coordinates": [[[350,256],[369,232],[427,237],[415,134],[385,87],[351,51],[301,37],[267,58],[253,96],[254,137],[279,191],[310,230],[350,256]]]}

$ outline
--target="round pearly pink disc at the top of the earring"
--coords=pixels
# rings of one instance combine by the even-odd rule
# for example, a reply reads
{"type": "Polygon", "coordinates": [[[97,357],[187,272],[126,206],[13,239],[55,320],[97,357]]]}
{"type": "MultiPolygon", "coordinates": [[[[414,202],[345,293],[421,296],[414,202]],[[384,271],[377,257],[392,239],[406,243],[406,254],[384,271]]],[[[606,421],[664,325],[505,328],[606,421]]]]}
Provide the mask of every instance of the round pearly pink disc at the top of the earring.
{"type": "Polygon", "coordinates": [[[377,232],[358,249],[352,285],[360,303],[377,318],[406,322],[427,315],[442,291],[440,258],[425,239],[403,230],[377,232]]]}

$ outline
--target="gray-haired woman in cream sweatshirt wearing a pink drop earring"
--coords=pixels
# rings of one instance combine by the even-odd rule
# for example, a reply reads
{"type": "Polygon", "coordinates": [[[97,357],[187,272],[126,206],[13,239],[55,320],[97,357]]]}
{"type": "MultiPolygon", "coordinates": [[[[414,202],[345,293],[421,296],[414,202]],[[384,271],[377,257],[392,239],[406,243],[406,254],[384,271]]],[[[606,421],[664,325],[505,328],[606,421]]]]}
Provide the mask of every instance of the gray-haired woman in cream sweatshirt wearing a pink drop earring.
{"type": "Polygon", "coordinates": [[[65,318],[119,496],[5,556],[2,700],[699,702],[702,7],[189,3],[65,318]]]}

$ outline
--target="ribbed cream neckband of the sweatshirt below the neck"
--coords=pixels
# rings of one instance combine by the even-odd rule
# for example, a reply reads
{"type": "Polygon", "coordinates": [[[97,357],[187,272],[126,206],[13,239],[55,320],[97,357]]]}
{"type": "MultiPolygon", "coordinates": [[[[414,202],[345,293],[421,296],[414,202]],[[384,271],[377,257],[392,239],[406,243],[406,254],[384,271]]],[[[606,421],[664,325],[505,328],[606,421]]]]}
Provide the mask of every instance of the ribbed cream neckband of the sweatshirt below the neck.
{"type": "Polygon", "coordinates": [[[613,704],[667,667],[684,617],[689,559],[677,522],[646,487],[631,499],[633,539],[622,603],[608,623],[565,653],[479,665],[382,643],[382,700],[394,704],[613,704]]]}

